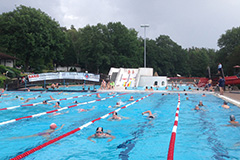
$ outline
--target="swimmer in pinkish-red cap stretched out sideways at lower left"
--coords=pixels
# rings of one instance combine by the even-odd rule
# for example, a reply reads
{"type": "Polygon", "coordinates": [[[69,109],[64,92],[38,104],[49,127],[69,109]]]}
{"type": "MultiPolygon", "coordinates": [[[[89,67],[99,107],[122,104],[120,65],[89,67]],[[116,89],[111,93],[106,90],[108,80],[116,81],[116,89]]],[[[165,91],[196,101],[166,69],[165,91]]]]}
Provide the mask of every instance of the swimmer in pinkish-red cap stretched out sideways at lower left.
{"type": "Polygon", "coordinates": [[[37,137],[37,136],[43,136],[46,139],[49,139],[49,136],[56,131],[59,131],[63,128],[64,124],[56,130],[57,125],[55,123],[50,124],[50,129],[45,130],[43,132],[37,133],[37,134],[33,134],[33,135],[29,135],[29,136],[22,136],[22,137],[13,137],[12,139],[18,139],[18,138],[30,138],[30,137],[37,137]]]}

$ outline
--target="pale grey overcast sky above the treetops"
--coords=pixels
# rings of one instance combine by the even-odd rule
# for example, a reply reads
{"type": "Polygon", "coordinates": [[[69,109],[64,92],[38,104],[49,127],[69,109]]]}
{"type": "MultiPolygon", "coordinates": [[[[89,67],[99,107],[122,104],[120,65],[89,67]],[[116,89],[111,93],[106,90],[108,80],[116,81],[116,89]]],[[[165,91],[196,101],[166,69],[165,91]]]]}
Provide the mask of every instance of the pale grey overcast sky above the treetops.
{"type": "Polygon", "coordinates": [[[147,37],[168,35],[183,48],[219,49],[221,34],[240,26],[240,0],[0,0],[0,14],[20,4],[41,9],[62,27],[121,22],[147,37]]]}

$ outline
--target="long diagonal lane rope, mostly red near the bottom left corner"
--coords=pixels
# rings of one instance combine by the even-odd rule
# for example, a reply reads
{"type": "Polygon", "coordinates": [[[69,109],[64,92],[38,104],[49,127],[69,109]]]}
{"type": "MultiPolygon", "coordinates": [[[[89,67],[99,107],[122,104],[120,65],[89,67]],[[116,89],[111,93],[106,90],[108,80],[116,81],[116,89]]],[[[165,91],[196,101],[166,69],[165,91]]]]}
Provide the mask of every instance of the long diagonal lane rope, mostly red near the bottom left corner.
{"type": "Polygon", "coordinates": [[[139,101],[143,100],[144,98],[147,98],[147,97],[151,96],[152,94],[153,94],[153,93],[151,93],[151,94],[149,94],[149,95],[147,95],[147,96],[144,96],[144,97],[142,97],[142,98],[140,98],[140,99],[138,99],[138,100],[136,100],[136,101],[134,101],[134,102],[132,102],[132,103],[129,103],[129,104],[127,104],[126,106],[123,106],[123,107],[121,107],[121,108],[118,108],[118,109],[116,109],[115,111],[112,111],[112,112],[110,112],[110,113],[107,113],[107,114],[105,114],[105,115],[102,116],[102,117],[99,117],[99,118],[97,118],[97,119],[94,119],[94,120],[92,120],[92,121],[90,121],[90,122],[88,122],[88,123],[86,123],[86,124],[84,124],[84,125],[76,128],[76,129],[74,129],[74,130],[72,130],[72,131],[70,131],[70,132],[67,132],[67,133],[65,133],[65,134],[63,134],[63,135],[61,135],[61,136],[59,136],[59,137],[57,137],[57,138],[54,138],[54,139],[52,139],[52,140],[50,140],[50,141],[48,141],[48,142],[46,142],[46,143],[43,143],[42,145],[39,145],[39,146],[37,146],[37,147],[35,147],[35,148],[27,151],[27,152],[24,152],[24,153],[22,153],[22,154],[20,154],[20,155],[18,155],[18,156],[16,156],[16,157],[14,157],[14,158],[12,158],[11,160],[19,160],[19,159],[22,159],[22,158],[24,158],[24,157],[26,157],[26,156],[28,156],[28,155],[30,155],[30,154],[32,154],[32,153],[34,153],[34,152],[42,149],[42,148],[44,148],[44,147],[46,147],[46,146],[48,146],[48,145],[50,145],[50,144],[53,144],[54,142],[57,142],[57,141],[65,138],[65,137],[67,137],[67,136],[69,136],[69,135],[71,135],[71,134],[74,134],[74,133],[77,132],[77,131],[82,130],[83,128],[88,127],[89,125],[93,124],[93,123],[96,122],[96,121],[99,121],[100,119],[105,119],[106,117],[108,117],[108,116],[109,116],[110,114],[112,114],[113,112],[118,112],[118,111],[120,111],[121,109],[127,108],[127,107],[129,107],[130,105],[133,105],[134,103],[139,102],[139,101]]]}

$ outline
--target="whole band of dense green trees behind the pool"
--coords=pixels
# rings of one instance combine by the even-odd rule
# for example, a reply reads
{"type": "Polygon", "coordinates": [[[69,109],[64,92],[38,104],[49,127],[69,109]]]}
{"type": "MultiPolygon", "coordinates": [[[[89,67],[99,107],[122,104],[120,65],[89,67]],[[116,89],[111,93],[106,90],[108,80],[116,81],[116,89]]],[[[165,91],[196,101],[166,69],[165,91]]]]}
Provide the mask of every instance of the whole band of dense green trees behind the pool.
{"type": "MultiPolygon", "coordinates": [[[[33,71],[55,65],[79,66],[82,71],[107,73],[110,67],[143,67],[143,39],[120,22],[61,28],[41,10],[19,6],[0,15],[0,50],[16,56],[18,65],[33,71]]],[[[216,73],[218,62],[233,74],[240,62],[240,28],[228,30],[218,40],[219,51],[183,49],[167,35],[147,40],[147,67],[159,75],[206,76],[216,73]]]]}

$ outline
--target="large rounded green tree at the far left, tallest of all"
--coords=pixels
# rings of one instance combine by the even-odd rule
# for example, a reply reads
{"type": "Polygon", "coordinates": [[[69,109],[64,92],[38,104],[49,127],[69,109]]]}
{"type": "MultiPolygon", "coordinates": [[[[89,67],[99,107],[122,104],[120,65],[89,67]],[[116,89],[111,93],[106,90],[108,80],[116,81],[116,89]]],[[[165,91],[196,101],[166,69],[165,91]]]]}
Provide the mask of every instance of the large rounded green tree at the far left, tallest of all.
{"type": "Polygon", "coordinates": [[[0,48],[36,70],[63,59],[66,35],[59,24],[40,9],[19,6],[0,15],[0,48]]]}

